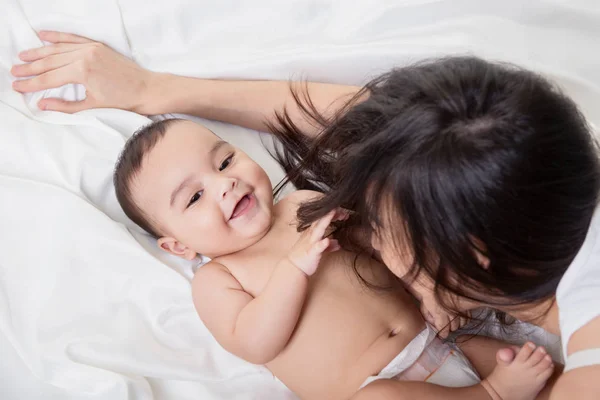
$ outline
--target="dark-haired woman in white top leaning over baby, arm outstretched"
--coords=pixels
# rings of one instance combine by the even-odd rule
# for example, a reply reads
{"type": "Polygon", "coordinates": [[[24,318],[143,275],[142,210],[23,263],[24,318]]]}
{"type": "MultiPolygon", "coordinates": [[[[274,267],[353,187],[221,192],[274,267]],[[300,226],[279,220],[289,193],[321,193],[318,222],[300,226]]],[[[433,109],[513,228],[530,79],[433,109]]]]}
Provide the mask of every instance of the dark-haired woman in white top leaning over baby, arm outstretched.
{"type": "MultiPolygon", "coordinates": [[[[311,185],[316,172],[329,189],[301,211],[307,223],[334,206],[358,211],[356,226],[372,232],[392,272],[410,278],[438,327],[446,322],[438,303],[458,313],[492,306],[530,320],[564,341],[569,372],[552,398],[595,398],[600,167],[577,108],[540,77],[450,60],[392,72],[364,90],[309,83],[310,101],[301,101],[287,82],[152,73],[82,37],[40,37],[56,45],[21,55],[30,64],[13,74],[37,76],[15,82],[15,90],[76,82],[88,96],[74,103],[43,99],[40,108],[178,112],[261,131],[278,127],[298,147],[282,154],[292,180],[311,185]],[[319,134],[318,146],[298,134],[319,134]],[[315,151],[340,145],[334,158],[315,151]]],[[[509,359],[512,351],[500,356],[509,359]]],[[[386,388],[371,390],[365,396],[386,388]]]]}

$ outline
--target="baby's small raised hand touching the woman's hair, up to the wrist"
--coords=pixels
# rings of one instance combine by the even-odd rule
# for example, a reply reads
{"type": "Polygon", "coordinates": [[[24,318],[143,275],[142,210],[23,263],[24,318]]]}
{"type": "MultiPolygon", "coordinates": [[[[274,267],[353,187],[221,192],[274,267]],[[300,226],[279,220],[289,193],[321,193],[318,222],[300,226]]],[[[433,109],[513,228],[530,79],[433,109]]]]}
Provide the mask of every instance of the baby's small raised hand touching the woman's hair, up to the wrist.
{"type": "Polygon", "coordinates": [[[347,217],[347,213],[333,210],[320,220],[313,222],[310,228],[302,232],[300,239],[290,251],[288,258],[292,264],[308,276],[314,274],[319,267],[323,253],[340,249],[337,240],[324,237],[327,228],[329,228],[332,221],[346,219],[347,217]]]}

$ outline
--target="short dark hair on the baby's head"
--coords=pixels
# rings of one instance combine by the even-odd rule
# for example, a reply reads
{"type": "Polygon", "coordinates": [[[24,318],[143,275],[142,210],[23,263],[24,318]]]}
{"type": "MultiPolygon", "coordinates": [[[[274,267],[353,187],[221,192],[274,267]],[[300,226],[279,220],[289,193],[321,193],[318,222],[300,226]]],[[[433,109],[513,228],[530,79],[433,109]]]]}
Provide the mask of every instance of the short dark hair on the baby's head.
{"type": "Polygon", "coordinates": [[[125,215],[156,238],[161,236],[160,231],[133,200],[131,185],[140,171],[146,154],[165,136],[167,128],[178,121],[182,119],[164,119],[152,122],[136,131],[125,143],[113,175],[117,200],[125,215]]]}

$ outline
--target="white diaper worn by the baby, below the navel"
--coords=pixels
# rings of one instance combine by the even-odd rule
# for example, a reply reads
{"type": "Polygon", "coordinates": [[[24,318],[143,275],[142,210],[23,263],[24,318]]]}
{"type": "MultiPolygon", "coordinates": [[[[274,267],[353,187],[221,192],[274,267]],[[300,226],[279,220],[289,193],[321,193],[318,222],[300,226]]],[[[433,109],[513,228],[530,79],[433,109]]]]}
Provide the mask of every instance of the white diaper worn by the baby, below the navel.
{"type": "Polygon", "coordinates": [[[361,388],[378,379],[430,382],[447,387],[473,386],[481,380],[462,352],[442,342],[429,325],[377,376],[367,378],[361,388]]]}

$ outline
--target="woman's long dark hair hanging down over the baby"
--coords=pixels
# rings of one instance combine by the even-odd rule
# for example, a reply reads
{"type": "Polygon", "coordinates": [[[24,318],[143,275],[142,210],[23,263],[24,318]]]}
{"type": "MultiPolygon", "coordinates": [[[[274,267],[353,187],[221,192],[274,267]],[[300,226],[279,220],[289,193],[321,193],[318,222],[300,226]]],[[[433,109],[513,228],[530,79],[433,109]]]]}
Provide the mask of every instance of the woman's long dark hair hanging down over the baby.
{"type": "MultiPolygon", "coordinates": [[[[300,227],[354,211],[345,229],[385,230],[414,278],[492,306],[551,299],[598,201],[600,167],[576,105],[540,75],[475,57],[394,69],[327,119],[293,90],[318,126],[304,139],[287,112],[276,154],[298,188],[300,227]],[[477,253],[489,260],[482,268],[477,253]]],[[[455,310],[458,311],[458,310],[455,310]]]]}

